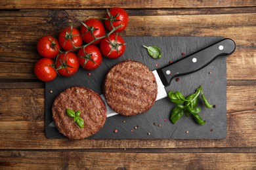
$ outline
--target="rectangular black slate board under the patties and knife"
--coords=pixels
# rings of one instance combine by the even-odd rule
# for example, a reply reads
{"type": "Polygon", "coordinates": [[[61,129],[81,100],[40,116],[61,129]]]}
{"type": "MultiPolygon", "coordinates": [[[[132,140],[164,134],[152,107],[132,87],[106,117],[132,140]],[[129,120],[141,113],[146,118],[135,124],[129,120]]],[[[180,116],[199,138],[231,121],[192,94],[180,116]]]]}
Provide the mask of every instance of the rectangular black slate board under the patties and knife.
{"type": "MultiPolygon", "coordinates": [[[[64,89],[70,86],[85,86],[102,94],[104,76],[108,69],[119,61],[125,59],[140,61],[153,71],[167,65],[169,61],[182,58],[182,52],[186,56],[223,37],[124,37],[124,39],[127,49],[121,58],[103,58],[102,65],[93,71],[80,68],[74,76],[58,76],[52,82],[45,84],[45,133],[48,138],[65,138],[51,124],[53,122],[51,107],[54,97],[64,89]],[[148,56],[146,49],[142,48],[143,44],[159,46],[162,58],[153,59],[148,56]],[[91,73],[91,76],[87,75],[88,73],[91,73]]],[[[179,82],[172,80],[171,85],[165,90],[166,92],[180,91],[186,96],[194,93],[200,85],[203,86],[203,92],[208,101],[217,105],[217,108],[212,109],[202,107],[200,116],[206,120],[203,126],[199,126],[191,117],[186,116],[176,124],[171,124],[169,116],[174,105],[165,98],[156,101],[154,106],[144,114],[132,117],[117,115],[107,118],[102,129],[89,139],[224,139],[226,137],[226,57],[215,59],[213,63],[196,73],[179,77],[179,82]],[[159,124],[161,126],[158,126],[159,124]],[[137,129],[135,129],[136,126],[137,129]],[[114,133],[114,129],[118,132],[114,133]]],[[[198,105],[202,106],[202,100],[198,105]]]]}

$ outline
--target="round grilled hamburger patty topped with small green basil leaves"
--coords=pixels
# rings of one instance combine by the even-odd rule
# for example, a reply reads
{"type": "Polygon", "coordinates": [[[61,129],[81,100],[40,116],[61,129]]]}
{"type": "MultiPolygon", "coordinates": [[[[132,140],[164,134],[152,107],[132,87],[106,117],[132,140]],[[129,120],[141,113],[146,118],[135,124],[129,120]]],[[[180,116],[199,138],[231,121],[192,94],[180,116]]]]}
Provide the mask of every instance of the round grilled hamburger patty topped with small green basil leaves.
{"type": "Polygon", "coordinates": [[[61,92],[52,107],[57,129],[69,139],[84,139],[95,134],[106,121],[106,106],[98,93],[84,87],[71,87],[61,92]],[[66,109],[81,110],[85,127],[77,126],[66,109]]]}

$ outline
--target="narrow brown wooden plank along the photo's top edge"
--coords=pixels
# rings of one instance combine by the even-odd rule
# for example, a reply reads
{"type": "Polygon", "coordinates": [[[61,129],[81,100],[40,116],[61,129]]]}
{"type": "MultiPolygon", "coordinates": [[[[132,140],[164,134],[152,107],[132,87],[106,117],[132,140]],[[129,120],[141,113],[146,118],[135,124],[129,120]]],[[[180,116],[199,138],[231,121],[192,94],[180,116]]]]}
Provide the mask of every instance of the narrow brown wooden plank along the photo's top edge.
{"type": "Polygon", "coordinates": [[[100,9],[110,7],[123,7],[129,9],[166,9],[166,8],[213,8],[213,7],[253,7],[256,3],[253,0],[246,1],[26,1],[10,0],[1,1],[0,9],[100,9]]]}

